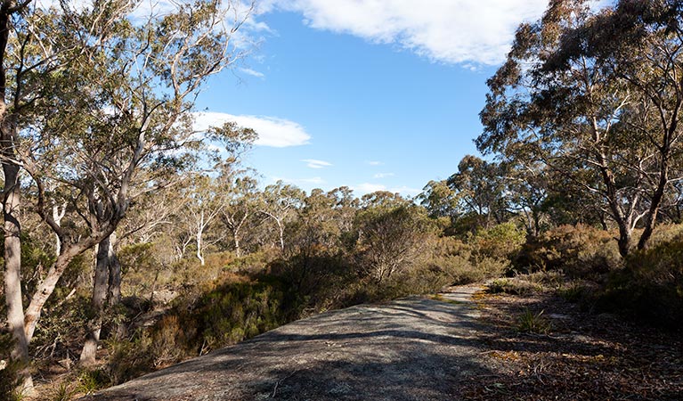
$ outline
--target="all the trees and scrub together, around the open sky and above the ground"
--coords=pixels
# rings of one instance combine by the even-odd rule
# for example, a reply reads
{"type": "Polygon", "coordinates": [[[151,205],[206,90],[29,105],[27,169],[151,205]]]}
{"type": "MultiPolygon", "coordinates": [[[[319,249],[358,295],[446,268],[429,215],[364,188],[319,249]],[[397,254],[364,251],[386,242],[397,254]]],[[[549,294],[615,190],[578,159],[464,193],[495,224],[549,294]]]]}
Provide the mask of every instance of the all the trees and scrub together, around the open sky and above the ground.
{"type": "Polygon", "coordinates": [[[194,99],[237,65],[230,39],[253,11],[220,7],[243,3],[145,23],[113,0],[0,10],[0,394],[66,374],[64,399],[306,315],[469,282],[681,329],[679,2],[551,1],[487,82],[476,145],[491,157],[466,155],[414,199],[263,186],[240,167],[253,130],[199,140],[194,99]]]}

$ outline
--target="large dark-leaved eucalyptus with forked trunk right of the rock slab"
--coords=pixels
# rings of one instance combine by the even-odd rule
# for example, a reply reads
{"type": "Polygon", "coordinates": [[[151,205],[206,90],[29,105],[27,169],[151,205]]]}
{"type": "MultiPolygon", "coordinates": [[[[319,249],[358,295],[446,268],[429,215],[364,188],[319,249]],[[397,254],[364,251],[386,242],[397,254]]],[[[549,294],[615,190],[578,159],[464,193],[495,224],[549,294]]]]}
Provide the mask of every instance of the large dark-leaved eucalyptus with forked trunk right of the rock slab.
{"type": "Polygon", "coordinates": [[[517,29],[508,60],[488,80],[477,146],[536,160],[597,195],[619,227],[649,240],[663,198],[681,178],[681,2],[622,0],[591,12],[584,0],[549,4],[517,29]]]}

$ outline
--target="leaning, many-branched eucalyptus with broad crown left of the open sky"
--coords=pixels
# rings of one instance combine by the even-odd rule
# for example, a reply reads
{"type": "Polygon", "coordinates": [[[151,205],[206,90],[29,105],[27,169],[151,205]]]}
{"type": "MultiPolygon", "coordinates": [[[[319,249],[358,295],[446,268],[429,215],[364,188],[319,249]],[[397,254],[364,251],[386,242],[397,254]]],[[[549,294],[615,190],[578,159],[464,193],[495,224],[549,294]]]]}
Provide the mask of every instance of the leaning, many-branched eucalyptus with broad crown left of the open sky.
{"type": "MultiPolygon", "coordinates": [[[[207,78],[243,55],[233,39],[250,8],[199,0],[141,19],[135,13],[139,5],[61,2],[59,9],[36,10],[28,29],[32,45],[15,48],[17,57],[51,53],[66,66],[34,70],[16,85],[45,94],[32,102],[36,113],[22,121],[25,128],[18,131],[14,150],[37,187],[37,212],[61,241],[61,253],[22,314],[23,330],[10,323],[20,343],[33,337],[45,301],[70,260],[107,241],[131,201],[163,185],[167,171],[183,164],[185,150],[198,145],[191,130],[196,95],[207,78]],[[53,218],[57,186],[68,188],[64,192],[70,193],[73,213],[65,218],[77,223],[60,225],[53,218]]],[[[240,139],[231,129],[210,134],[227,142],[240,139]]],[[[109,248],[104,245],[102,250],[109,248]]],[[[106,286],[98,283],[107,282],[102,278],[106,269],[99,267],[89,330],[95,342],[106,298],[106,286]]],[[[8,299],[16,307],[13,302],[8,299]]],[[[84,350],[82,360],[93,357],[84,350]]]]}

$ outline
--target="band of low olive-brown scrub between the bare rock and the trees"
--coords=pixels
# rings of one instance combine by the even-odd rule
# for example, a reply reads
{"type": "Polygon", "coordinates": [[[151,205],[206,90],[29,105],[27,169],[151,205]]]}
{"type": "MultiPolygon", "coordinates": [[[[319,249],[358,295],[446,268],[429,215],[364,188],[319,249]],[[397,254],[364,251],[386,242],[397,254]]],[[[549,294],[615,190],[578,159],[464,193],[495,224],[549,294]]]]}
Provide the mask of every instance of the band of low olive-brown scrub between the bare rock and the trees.
{"type": "MultiPolygon", "coordinates": [[[[661,225],[651,248],[622,258],[614,232],[591,225],[557,225],[533,236],[521,219],[512,217],[462,231],[393,194],[373,194],[343,212],[334,192],[311,196],[290,217],[284,250],[276,232],[263,230],[263,225],[255,229],[272,235],[270,244],[247,244],[245,249],[256,250],[237,257],[229,243],[216,241],[205,250],[204,264],[192,245],[182,258],[169,257],[173,232],[121,245],[123,299],[106,311],[101,363],[85,370],[73,366],[92,314],[87,272],[94,255],[76,258],[38,326],[33,369],[49,372],[55,364],[61,366],[71,384],[54,391],[75,394],[307,315],[471,282],[490,282],[491,291],[522,295],[554,291],[587,311],[622,313],[679,328],[681,225],[661,225]]],[[[220,225],[213,227],[218,229],[220,225]]],[[[50,239],[28,240],[25,260],[37,271],[50,258],[50,239]]],[[[9,350],[4,347],[5,356],[9,350]]],[[[16,367],[2,372],[11,380],[16,367]]]]}

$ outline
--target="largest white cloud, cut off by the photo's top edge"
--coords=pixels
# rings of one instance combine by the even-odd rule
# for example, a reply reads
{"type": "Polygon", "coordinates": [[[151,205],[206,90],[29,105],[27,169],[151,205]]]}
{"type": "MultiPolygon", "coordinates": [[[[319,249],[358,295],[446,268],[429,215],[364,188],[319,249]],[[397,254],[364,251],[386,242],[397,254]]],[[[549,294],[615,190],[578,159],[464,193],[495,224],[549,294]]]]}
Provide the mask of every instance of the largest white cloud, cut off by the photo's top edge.
{"type": "MultiPolygon", "coordinates": [[[[497,64],[515,30],[548,0],[271,0],[314,29],[396,44],[433,61],[497,64]]],[[[264,10],[272,10],[267,6],[264,10]]]]}

